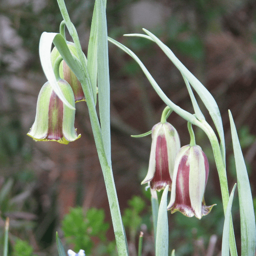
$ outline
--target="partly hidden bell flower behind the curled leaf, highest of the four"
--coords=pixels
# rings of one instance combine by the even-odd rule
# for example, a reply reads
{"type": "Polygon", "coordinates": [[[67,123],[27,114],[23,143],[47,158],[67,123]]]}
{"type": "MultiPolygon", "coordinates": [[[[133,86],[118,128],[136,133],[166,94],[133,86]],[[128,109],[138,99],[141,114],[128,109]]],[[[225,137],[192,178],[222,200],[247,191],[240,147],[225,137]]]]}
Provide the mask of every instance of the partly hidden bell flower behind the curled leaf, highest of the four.
{"type": "MultiPolygon", "coordinates": [[[[72,42],[67,42],[67,46],[70,52],[78,58],[75,44],[72,42]]],[[[52,66],[54,65],[55,60],[59,56],[60,56],[60,53],[58,52],[57,48],[54,47],[51,52],[52,66]]],[[[84,58],[86,60],[85,56],[84,58]]],[[[62,79],[66,80],[70,84],[75,96],[75,102],[85,101],[85,96],[84,96],[81,83],[78,81],[76,75],[73,73],[73,71],[70,69],[70,67],[67,65],[67,63],[64,60],[61,61],[61,64],[59,65],[59,75],[62,79]]]]}

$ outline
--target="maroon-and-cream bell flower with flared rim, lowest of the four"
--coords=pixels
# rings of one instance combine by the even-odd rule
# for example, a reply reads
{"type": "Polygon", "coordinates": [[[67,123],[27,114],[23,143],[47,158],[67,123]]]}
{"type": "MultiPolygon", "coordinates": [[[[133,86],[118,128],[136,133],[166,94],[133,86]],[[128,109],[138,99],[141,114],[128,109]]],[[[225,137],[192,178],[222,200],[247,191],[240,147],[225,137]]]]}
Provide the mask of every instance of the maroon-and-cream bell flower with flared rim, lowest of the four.
{"type": "Polygon", "coordinates": [[[172,213],[201,219],[212,210],[204,202],[204,190],[209,174],[208,159],[198,145],[181,147],[175,161],[170,203],[172,213]]]}

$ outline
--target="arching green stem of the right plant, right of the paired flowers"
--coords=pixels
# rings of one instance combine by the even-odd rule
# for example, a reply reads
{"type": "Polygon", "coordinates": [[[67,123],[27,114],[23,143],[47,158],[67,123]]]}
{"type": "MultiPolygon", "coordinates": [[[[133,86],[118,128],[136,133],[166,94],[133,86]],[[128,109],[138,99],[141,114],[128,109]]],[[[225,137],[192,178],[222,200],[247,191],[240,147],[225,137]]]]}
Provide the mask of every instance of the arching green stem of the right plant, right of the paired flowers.
{"type": "MultiPolygon", "coordinates": [[[[224,214],[225,214],[227,210],[227,204],[229,201],[229,191],[228,191],[228,185],[227,185],[227,172],[226,172],[225,164],[223,162],[222,153],[220,150],[220,144],[216,134],[214,133],[214,130],[205,120],[195,122],[195,124],[199,126],[206,133],[212,145],[212,150],[214,153],[214,158],[215,158],[219,179],[220,179],[220,189],[222,192],[222,202],[223,202],[223,208],[224,208],[224,214]]],[[[230,231],[229,231],[229,248],[230,248],[231,256],[237,256],[237,246],[235,243],[235,234],[234,234],[232,218],[230,222],[230,231]]]]}

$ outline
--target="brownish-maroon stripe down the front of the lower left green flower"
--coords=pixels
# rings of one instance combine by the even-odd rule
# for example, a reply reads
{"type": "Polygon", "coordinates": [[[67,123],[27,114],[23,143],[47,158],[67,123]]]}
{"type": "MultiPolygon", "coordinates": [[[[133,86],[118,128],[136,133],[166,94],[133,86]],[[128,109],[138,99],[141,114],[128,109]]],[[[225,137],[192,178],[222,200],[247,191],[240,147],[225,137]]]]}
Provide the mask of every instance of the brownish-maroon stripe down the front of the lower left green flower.
{"type": "Polygon", "coordinates": [[[63,102],[52,91],[49,105],[49,124],[48,124],[48,136],[46,139],[61,139],[63,138],[62,132],[63,122],[63,102]]]}

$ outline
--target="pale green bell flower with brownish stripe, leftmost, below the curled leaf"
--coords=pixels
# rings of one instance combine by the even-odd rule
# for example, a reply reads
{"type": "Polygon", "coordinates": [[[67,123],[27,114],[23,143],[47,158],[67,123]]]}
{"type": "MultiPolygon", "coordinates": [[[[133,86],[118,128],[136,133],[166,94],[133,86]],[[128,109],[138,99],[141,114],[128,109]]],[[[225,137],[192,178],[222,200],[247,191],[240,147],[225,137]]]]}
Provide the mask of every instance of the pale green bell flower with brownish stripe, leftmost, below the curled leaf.
{"type": "MultiPolygon", "coordinates": [[[[75,107],[75,99],[70,85],[60,79],[58,85],[67,101],[75,107]]],[[[59,99],[49,82],[40,90],[36,105],[36,118],[28,136],[35,141],[58,141],[68,144],[81,137],[74,128],[75,110],[70,109],[59,99]]]]}

